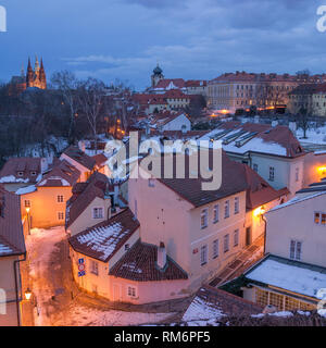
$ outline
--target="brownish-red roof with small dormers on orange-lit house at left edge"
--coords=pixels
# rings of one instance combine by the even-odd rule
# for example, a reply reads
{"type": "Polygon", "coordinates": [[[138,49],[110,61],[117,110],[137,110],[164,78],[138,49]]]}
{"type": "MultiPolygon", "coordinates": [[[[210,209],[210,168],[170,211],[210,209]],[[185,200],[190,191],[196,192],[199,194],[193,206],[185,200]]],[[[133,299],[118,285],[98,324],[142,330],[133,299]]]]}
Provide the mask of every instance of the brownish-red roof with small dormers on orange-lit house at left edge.
{"type": "MultiPolygon", "coordinates": [[[[35,184],[41,173],[41,160],[40,158],[9,159],[0,172],[0,179],[3,178],[4,183],[7,177],[13,176],[17,181],[35,184]],[[18,176],[18,172],[22,172],[23,175],[18,176]],[[32,173],[35,173],[35,175],[32,175],[32,173]]],[[[8,183],[12,181],[8,181],[8,183]]]]}

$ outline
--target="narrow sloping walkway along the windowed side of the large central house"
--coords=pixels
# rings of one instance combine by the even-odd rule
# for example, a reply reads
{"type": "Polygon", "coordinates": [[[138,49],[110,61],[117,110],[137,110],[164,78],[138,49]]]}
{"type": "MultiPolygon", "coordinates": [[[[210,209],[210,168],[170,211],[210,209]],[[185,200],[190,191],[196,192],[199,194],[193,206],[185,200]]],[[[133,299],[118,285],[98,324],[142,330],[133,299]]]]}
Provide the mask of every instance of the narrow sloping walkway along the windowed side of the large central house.
{"type": "Polygon", "coordinates": [[[262,259],[264,256],[264,236],[255,239],[249,247],[243,249],[234,261],[225,266],[210,285],[213,287],[220,287],[224,283],[229,282],[240,276],[251,265],[262,259]]]}

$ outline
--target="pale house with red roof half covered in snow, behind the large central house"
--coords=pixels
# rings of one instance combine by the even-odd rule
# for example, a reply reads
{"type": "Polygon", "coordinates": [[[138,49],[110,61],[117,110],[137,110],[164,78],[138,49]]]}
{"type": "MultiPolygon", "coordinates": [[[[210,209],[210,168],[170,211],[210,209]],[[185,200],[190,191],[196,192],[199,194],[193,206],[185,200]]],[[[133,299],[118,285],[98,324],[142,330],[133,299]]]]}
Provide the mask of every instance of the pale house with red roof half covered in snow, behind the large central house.
{"type": "Polygon", "coordinates": [[[221,122],[202,140],[221,140],[230,159],[248,164],[275,189],[304,184],[306,152],[287,126],[221,122]]]}

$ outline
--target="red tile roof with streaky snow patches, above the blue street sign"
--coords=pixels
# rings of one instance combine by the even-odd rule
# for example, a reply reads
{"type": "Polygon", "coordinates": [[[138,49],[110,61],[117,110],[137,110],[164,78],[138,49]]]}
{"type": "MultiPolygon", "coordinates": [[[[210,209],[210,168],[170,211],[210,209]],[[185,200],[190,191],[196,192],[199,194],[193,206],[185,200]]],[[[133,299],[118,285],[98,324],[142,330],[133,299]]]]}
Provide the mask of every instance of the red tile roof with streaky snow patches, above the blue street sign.
{"type": "Polygon", "coordinates": [[[68,243],[75,251],[108,262],[138,228],[138,220],[126,209],[71,237],[68,243]]]}

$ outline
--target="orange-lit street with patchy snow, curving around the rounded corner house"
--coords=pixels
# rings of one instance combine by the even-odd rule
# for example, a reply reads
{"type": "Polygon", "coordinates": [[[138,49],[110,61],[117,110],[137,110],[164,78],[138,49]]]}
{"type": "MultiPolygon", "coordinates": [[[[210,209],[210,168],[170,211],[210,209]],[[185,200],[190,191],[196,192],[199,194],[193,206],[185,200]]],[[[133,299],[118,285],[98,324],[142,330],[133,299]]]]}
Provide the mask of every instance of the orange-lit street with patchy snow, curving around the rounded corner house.
{"type": "Polygon", "coordinates": [[[175,314],[115,310],[80,293],[73,282],[64,227],[32,229],[26,247],[36,326],[140,325],[175,314]]]}

